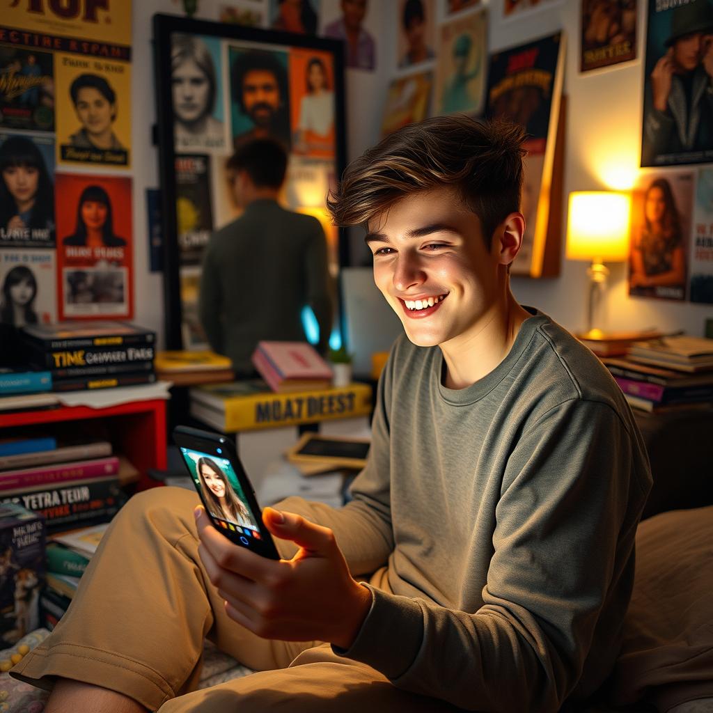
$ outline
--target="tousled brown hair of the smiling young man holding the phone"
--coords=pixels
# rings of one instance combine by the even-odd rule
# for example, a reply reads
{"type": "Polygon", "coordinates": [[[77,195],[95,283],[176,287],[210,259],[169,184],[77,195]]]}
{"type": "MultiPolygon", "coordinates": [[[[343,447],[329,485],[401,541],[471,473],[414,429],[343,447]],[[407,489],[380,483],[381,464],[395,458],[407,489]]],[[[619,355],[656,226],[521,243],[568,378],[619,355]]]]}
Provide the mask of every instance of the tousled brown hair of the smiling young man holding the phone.
{"type": "Polygon", "coordinates": [[[450,187],[490,247],[496,227],[520,209],[524,140],[520,125],[462,114],[409,124],[347,166],[327,207],[335,225],[364,225],[407,195],[450,187]]]}

